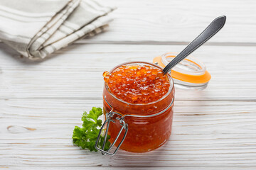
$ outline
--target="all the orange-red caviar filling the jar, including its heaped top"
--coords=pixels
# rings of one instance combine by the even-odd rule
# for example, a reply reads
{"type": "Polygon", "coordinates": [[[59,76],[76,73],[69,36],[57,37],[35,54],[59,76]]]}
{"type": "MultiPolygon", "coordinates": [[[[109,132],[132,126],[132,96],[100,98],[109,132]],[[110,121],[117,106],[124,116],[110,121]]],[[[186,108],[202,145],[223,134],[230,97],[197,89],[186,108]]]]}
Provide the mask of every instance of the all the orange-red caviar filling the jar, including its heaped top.
{"type": "MultiPolygon", "coordinates": [[[[174,83],[171,76],[164,75],[161,67],[155,64],[129,62],[104,72],[103,77],[105,113],[111,111],[110,106],[121,115],[153,115],[168,108],[153,117],[125,118],[129,130],[120,148],[129,152],[148,152],[163,145],[171,135],[173,118],[174,83]]],[[[110,123],[110,142],[121,128],[118,121],[110,123]]]]}

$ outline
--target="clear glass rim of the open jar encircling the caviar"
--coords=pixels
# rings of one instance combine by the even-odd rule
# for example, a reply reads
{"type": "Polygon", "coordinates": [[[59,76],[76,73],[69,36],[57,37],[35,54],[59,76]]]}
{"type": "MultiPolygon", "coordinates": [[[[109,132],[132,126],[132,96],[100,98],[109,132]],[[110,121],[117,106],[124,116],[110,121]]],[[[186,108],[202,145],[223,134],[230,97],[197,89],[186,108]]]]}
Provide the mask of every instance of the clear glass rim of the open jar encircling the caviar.
{"type": "MultiPolygon", "coordinates": [[[[154,63],[150,63],[150,62],[140,62],[140,61],[135,61],[135,62],[124,62],[122,64],[118,64],[116,67],[114,67],[113,69],[110,70],[110,73],[112,71],[114,71],[114,69],[117,69],[118,67],[122,66],[122,65],[127,65],[127,64],[149,64],[151,66],[157,67],[161,70],[163,70],[163,68],[161,68],[159,65],[156,65],[154,63]]],[[[171,91],[173,91],[174,89],[174,79],[171,77],[171,74],[167,73],[166,74],[168,79],[169,79],[169,83],[171,84],[171,86],[169,87],[169,91],[164,94],[164,96],[162,96],[161,98],[159,98],[156,101],[152,101],[150,103],[129,103],[127,101],[122,100],[121,98],[117,98],[117,96],[115,96],[114,94],[112,94],[112,92],[110,91],[109,87],[107,86],[107,83],[105,82],[105,88],[107,89],[107,92],[115,99],[117,99],[117,101],[120,101],[122,103],[126,103],[127,105],[131,105],[131,106],[146,106],[146,105],[151,105],[154,103],[158,103],[159,101],[164,100],[164,98],[166,98],[167,96],[169,96],[169,94],[171,94],[171,91]]]]}

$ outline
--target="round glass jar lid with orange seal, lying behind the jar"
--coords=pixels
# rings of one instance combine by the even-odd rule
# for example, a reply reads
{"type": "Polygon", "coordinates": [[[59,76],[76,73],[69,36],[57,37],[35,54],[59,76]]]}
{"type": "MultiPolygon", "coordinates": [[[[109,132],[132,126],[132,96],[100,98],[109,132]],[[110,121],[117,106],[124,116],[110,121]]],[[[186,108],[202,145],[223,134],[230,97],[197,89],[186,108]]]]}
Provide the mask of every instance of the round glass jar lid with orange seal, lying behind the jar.
{"type": "MultiPolygon", "coordinates": [[[[155,57],[153,62],[164,68],[174,57],[176,57],[175,53],[168,52],[155,57]]],[[[210,73],[207,72],[205,65],[191,56],[186,57],[171,69],[171,77],[175,84],[189,89],[205,89],[210,81],[210,73]]]]}

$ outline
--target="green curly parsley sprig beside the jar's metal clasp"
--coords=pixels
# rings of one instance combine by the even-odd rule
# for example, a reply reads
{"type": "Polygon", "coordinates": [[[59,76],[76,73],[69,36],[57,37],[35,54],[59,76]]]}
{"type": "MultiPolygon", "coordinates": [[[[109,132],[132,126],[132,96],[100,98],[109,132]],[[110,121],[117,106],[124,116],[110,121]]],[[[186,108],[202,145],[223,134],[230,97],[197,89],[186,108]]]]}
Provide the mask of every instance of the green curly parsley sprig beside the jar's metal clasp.
{"type": "MultiPolygon", "coordinates": [[[[87,114],[86,112],[82,114],[82,128],[75,126],[73,130],[73,144],[82,149],[90,149],[90,151],[97,152],[95,148],[95,143],[97,140],[97,135],[100,132],[100,127],[102,126],[102,120],[98,119],[102,115],[101,108],[93,107],[92,110],[87,114]]],[[[110,135],[107,135],[107,142],[105,144],[105,150],[110,148],[110,135]]],[[[102,148],[104,142],[103,134],[100,135],[100,141],[97,147],[102,148]]]]}

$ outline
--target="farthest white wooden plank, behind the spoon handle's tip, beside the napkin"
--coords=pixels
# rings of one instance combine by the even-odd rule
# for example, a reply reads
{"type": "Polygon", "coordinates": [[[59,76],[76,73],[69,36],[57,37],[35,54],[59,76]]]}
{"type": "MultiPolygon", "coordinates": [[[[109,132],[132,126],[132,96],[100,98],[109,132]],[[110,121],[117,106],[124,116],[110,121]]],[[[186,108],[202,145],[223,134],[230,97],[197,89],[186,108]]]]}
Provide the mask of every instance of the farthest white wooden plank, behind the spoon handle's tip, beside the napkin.
{"type": "Polygon", "coordinates": [[[209,42],[256,45],[256,1],[253,0],[106,0],[118,8],[107,33],[82,42],[186,44],[218,16],[227,16],[223,30],[209,42]]]}

